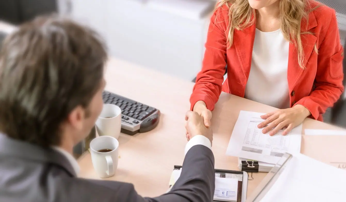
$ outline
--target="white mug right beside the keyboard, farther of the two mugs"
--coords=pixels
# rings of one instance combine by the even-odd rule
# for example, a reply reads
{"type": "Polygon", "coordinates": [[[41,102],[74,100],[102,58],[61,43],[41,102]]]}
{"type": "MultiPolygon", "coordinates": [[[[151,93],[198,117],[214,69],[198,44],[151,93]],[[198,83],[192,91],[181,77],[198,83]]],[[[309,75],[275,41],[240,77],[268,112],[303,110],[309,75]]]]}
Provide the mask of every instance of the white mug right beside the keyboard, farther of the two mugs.
{"type": "Polygon", "coordinates": [[[121,130],[121,109],[117,105],[104,104],[96,121],[96,129],[99,136],[108,135],[118,139],[121,130]]]}

